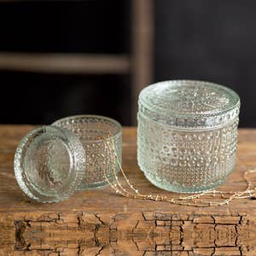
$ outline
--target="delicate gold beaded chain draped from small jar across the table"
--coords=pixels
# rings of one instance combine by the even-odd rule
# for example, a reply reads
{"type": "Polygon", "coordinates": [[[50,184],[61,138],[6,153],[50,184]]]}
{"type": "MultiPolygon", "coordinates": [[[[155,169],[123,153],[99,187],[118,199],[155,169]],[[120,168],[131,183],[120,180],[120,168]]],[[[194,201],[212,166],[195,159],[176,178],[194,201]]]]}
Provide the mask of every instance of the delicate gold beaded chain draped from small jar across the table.
{"type": "MultiPolygon", "coordinates": [[[[186,196],[166,196],[166,195],[144,195],[139,192],[138,189],[131,184],[129,178],[126,176],[115,150],[113,140],[109,136],[105,138],[105,149],[106,155],[110,157],[111,162],[111,172],[113,178],[111,180],[108,178],[106,170],[104,170],[104,176],[108,181],[110,187],[118,194],[123,195],[128,198],[141,199],[141,200],[151,200],[151,201],[167,201],[172,204],[183,205],[183,206],[193,206],[193,207],[214,207],[214,206],[223,206],[228,205],[230,201],[234,199],[250,198],[256,199],[256,187],[253,186],[253,183],[249,179],[250,174],[256,174],[256,169],[248,170],[244,172],[243,177],[247,183],[247,188],[243,191],[220,191],[220,190],[207,190],[202,193],[186,195],[186,196]],[[118,163],[121,175],[125,179],[125,184],[128,189],[120,183],[119,177],[115,171],[116,164],[118,163]],[[208,198],[210,197],[210,199],[208,198]]],[[[107,169],[107,168],[106,168],[107,169]]]]}

